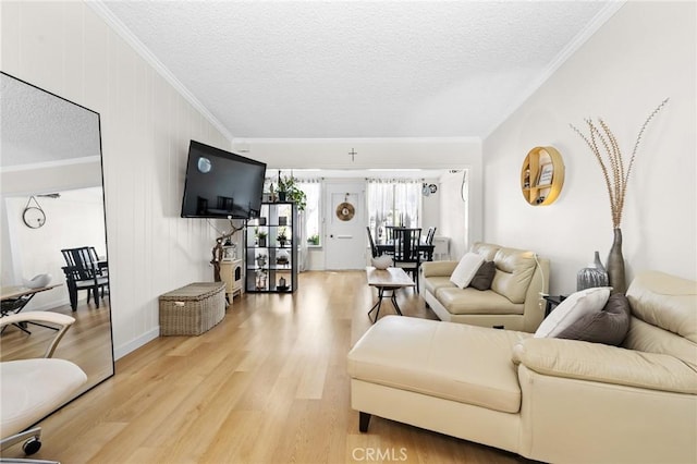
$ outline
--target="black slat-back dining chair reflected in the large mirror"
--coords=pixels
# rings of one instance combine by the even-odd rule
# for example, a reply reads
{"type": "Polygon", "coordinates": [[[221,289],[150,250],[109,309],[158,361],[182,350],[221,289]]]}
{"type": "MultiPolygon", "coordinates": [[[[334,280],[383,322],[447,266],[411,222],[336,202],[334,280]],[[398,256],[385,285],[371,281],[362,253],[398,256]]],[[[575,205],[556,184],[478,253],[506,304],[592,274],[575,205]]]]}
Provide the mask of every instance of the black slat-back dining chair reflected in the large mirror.
{"type": "Polygon", "coordinates": [[[77,292],[87,291],[87,303],[90,297],[95,298],[95,305],[99,307],[100,293],[109,286],[109,277],[103,274],[99,266],[94,261],[89,246],[78,248],[61,249],[65,259],[63,273],[65,274],[65,285],[70,297],[70,307],[77,310],[77,292]]]}

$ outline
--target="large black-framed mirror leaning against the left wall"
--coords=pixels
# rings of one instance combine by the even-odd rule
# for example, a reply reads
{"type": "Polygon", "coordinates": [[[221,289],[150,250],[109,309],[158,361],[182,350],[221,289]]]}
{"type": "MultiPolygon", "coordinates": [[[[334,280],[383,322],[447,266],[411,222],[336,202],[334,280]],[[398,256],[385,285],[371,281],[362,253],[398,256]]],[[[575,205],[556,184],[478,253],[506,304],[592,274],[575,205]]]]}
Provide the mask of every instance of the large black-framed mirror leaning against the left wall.
{"type": "MultiPolygon", "coordinates": [[[[17,294],[26,281],[50,274],[20,310],[76,319],[54,357],[87,374],[82,394],[114,374],[99,113],[9,74],[0,78],[3,313],[21,306],[17,294]],[[78,291],[73,309],[61,251],[84,246],[94,248],[107,284],[97,302],[78,291]]],[[[8,326],[0,334],[0,361],[40,357],[52,334],[35,325],[8,326]]]]}

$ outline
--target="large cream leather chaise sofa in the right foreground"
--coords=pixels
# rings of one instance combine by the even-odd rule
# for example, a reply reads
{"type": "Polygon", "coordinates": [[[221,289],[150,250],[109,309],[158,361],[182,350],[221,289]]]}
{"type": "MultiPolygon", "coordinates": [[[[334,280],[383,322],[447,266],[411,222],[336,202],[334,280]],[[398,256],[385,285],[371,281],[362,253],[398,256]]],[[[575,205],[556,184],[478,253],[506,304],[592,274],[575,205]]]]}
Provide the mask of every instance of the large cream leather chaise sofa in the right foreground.
{"type": "Polygon", "coordinates": [[[545,462],[697,462],[697,282],[645,272],[621,347],[387,316],[348,353],[370,415],[545,462]]]}

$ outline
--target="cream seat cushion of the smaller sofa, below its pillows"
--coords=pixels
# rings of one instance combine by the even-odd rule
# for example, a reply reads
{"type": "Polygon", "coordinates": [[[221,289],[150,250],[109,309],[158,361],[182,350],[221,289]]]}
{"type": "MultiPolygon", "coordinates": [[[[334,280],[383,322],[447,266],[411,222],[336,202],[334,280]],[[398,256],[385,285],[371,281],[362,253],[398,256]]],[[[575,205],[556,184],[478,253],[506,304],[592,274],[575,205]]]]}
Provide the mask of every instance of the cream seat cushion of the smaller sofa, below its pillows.
{"type": "Polygon", "coordinates": [[[525,308],[522,303],[511,303],[509,298],[492,290],[442,286],[435,295],[450,314],[523,314],[525,308]]]}

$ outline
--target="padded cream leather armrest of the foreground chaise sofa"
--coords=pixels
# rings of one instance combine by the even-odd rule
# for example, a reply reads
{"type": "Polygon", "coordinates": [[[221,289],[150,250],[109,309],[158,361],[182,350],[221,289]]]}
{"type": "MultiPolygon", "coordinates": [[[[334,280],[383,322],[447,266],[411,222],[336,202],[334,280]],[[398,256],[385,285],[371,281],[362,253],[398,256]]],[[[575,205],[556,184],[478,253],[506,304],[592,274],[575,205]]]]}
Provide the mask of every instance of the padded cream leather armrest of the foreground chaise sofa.
{"type": "Polygon", "coordinates": [[[538,374],[697,394],[697,373],[676,357],[562,339],[526,339],[513,362],[538,374]]]}

